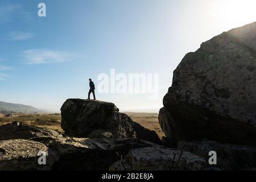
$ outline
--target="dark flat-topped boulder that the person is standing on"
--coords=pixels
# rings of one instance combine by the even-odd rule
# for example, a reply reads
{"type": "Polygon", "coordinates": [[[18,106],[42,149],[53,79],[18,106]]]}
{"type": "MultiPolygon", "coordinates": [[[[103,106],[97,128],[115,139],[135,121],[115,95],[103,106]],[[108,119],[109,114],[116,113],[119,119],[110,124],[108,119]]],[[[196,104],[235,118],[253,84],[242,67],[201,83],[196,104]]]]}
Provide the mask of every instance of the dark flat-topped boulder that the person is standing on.
{"type": "Polygon", "coordinates": [[[145,129],[110,102],[68,99],[61,107],[61,127],[73,137],[89,137],[95,130],[112,133],[113,138],[137,138],[160,143],[155,131],[145,129]]]}

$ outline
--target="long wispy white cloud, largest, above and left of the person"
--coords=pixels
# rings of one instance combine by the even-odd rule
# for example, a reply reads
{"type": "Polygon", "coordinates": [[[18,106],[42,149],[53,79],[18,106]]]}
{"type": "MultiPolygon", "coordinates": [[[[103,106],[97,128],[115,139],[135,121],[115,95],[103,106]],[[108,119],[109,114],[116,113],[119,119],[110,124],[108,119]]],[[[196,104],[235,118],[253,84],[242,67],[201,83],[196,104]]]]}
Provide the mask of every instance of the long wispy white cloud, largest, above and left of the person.
{"type": "Polygon", "coordinates": [[[63,63],[84,59],[84,56],[66,51],[52,51],[48,49],[29,49],[22,52],[22,61],[26,64],[63,63]]]}

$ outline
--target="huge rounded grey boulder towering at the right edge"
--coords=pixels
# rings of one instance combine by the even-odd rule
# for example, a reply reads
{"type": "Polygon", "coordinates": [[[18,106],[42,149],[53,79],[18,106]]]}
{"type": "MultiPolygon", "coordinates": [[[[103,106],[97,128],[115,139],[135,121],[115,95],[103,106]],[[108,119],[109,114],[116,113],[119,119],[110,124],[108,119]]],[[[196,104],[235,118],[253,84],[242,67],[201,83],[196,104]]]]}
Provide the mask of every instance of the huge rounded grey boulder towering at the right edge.
{"type": "Polygon", "coordinates": [[[210,139],[256,146],[256,22],[185,55],[159,122],[171,143],[210,139]]]}

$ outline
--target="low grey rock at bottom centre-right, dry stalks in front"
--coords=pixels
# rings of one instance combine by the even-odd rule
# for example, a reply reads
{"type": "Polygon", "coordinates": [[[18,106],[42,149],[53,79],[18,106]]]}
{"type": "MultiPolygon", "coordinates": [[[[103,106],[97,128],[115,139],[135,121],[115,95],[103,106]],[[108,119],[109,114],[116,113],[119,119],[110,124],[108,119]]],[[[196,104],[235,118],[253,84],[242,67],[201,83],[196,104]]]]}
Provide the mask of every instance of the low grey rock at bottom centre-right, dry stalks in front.
{"type": "Polygon", "coordinates": [[[130,150],[123,162],[118,160],[109,169],[110,171],[200,171],[205,169],[205,160],[190,152],[153,146],[130,150]]]}

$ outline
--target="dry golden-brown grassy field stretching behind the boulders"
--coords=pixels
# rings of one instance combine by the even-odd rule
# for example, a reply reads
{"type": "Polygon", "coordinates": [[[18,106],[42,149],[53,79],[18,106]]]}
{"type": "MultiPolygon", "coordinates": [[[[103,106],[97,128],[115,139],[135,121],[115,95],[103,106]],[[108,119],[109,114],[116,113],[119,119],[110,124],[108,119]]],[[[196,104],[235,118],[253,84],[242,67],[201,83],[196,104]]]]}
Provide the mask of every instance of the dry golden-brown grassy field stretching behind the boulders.
{"type": "MultiPolygon", "coordinates": [[[[157,113],[126,113],[133,119],[133,121],[141,124],[142,126],[156,131],[160,138],[164,136],[160,125],[158,123],[157,113]]],[[[13,114],[12,117],[5,117],[0,114],[0,126],[7,123],[18,121],[38,127],[53,129],[63,133],[61,129],[61,115],[60,114],[13,114]]]]}

